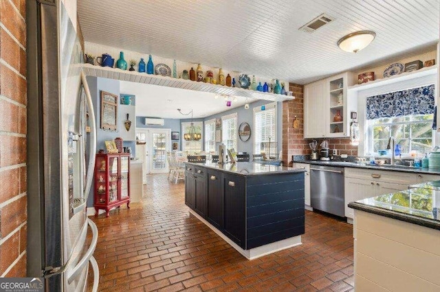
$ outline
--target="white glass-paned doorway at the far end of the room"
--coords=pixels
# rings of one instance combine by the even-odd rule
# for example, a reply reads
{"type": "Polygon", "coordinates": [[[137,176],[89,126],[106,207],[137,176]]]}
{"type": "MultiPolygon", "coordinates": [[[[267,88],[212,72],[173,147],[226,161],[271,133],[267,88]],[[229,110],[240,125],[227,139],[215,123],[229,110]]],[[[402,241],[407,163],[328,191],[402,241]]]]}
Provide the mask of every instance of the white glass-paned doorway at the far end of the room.
{"type": "Polygon", "coordinates": [[[137,147],[139,157],[144,165],[144,173],[168,173],[168,161],[166,152],[171,149],[171,130],[136,128],[136,137],[140,143],[145,143],[144,147],[137,147]]]}

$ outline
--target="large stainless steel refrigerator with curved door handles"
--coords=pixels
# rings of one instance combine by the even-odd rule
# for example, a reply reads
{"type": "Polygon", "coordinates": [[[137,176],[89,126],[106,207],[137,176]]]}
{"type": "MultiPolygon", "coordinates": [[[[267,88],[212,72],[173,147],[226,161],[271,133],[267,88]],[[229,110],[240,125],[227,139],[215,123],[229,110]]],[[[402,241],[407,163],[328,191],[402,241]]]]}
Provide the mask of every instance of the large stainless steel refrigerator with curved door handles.
{"type": "Polygon", "coordinates": [[[86,208],[96,126],[83,51],[61,0],[27,1],[26,22],[28,276],[44,277],[46,291],[85,291],[91,266],[96,291],[98,229],[86,208]]]}

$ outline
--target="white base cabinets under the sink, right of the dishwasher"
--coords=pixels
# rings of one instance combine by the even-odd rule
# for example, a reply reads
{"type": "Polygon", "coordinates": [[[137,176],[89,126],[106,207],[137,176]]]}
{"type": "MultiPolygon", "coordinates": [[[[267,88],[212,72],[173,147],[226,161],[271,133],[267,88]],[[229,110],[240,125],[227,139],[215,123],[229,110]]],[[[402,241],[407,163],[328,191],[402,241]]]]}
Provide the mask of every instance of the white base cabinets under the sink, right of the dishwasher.
{"type": "Polygon", "coordinates": [[[405,191],[410,184],[415,183],[417,183],[417,173],[346,167],[344,171],[344,215],[350,219],[354,218],[354,210],[348,206],[350,202],[405,191]]]}

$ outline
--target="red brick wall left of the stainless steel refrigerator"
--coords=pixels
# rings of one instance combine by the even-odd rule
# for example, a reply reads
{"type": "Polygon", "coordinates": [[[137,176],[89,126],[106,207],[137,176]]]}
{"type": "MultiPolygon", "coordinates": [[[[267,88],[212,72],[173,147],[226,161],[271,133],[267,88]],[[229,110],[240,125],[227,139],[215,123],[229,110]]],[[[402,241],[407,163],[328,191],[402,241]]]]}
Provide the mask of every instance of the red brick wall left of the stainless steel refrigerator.
{"type": "Polygon", "coordinates": [[[25,0],[0,0],[0,276],[26,276],[25,0]]]}

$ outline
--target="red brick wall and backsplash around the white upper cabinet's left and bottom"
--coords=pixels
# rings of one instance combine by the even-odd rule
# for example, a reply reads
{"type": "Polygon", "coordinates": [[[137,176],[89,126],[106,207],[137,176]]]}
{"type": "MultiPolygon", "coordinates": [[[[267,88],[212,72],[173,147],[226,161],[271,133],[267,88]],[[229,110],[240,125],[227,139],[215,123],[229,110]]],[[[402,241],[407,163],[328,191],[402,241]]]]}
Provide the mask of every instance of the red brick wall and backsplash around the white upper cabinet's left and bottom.
{"type": "MultiPolygon", "coordinates": [[[[313,139],[304,138],[304,86],[289,83],[295,99],[283,102],[283,163],[292,161],[292,155],[310,154],[309,143],[313,139]],[[299,127],[294,129],[294,119],[299,127]]],[[[318,139],[318,145],[324,139],[318,139]]],[[[338,149],[339,154],[358,155],[358,147],[350,145],[349,138],[326,139],[330,149],[338,149]]]]}

